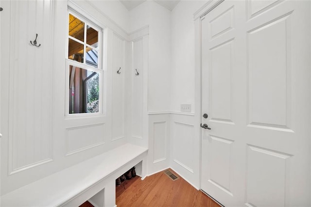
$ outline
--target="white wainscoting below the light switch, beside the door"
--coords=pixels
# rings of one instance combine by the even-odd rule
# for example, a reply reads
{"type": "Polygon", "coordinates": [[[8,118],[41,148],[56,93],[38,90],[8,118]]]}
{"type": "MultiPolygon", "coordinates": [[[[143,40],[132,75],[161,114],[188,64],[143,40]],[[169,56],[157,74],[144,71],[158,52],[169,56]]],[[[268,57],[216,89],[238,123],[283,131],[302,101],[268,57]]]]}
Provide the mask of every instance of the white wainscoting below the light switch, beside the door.
{"type": "Polygon", "coordinates": [[[170,117],[170,165],[195,189],[200,188],[200,117],[173,112],[170,117]]]}

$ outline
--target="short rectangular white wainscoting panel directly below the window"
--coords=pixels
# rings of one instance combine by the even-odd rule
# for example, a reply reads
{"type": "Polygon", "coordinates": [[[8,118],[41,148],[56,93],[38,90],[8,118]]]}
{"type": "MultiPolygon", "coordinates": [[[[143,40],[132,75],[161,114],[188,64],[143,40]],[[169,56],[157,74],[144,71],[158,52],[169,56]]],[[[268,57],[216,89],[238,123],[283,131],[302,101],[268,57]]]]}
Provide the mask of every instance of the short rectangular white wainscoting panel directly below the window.
{"type": "Polygon", "coordinates": [[[105,123],[70,127],[66,129],[66,152],[72,155],[105,143],[105,123]]]}

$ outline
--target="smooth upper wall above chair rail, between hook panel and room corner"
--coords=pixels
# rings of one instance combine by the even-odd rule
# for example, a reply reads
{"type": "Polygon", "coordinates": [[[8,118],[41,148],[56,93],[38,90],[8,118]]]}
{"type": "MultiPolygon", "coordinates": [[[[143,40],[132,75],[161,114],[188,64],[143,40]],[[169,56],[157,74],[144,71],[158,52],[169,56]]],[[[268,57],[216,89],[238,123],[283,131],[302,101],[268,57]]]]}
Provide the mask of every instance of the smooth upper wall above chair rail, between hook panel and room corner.
{"type": "Polygon", "coordinates": [[[130,31],[149,25],[148,112],[170,110],[171,12],[154,1],[130,11],[130,31]]]}

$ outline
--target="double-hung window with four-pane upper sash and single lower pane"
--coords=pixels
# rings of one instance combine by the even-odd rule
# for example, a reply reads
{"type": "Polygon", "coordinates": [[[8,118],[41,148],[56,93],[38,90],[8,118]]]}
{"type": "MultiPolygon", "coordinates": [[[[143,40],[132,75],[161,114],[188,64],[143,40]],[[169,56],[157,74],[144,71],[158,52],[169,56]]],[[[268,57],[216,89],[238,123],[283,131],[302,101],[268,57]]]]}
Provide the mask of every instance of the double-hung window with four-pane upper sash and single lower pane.
{"type": "Polygon", "coordinates": [[[101,112],[102,28],[69,11],[67,114],[101,112]]]}

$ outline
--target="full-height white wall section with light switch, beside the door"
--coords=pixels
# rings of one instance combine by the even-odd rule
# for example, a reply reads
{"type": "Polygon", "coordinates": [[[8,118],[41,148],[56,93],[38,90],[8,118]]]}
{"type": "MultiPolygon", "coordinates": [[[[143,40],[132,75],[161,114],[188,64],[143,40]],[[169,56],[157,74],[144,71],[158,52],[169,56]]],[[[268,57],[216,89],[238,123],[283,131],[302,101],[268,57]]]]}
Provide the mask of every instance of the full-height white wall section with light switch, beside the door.
{"type": "Polygon", "coordinates": [[[172,11],[171,163],[196,189],[200,188],[200,108],[195,103],[195,30],[193,14],[207,1],[180,1],[172,11]],[[180,113],[191,104],[191,113],[180,113]],[[197,108],[196,108],[197,107],[197,108]]]}

